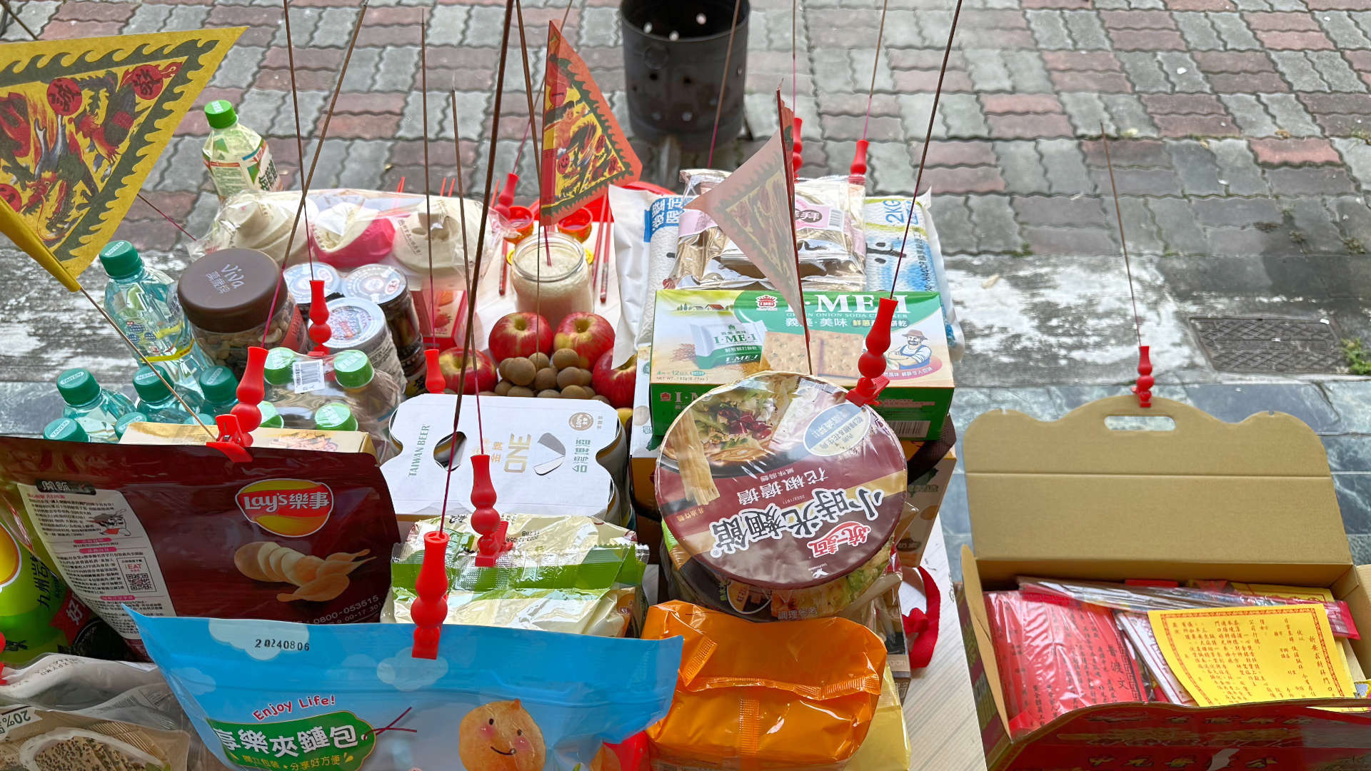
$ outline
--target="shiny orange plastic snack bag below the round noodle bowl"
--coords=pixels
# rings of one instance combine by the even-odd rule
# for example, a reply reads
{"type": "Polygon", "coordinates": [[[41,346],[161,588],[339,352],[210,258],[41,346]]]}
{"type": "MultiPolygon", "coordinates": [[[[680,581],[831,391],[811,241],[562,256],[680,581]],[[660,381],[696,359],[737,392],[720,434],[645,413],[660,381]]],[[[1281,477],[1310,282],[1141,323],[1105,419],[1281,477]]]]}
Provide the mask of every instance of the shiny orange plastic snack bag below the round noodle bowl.
{"type": "Polygon", "coordinates": [[[846,619],[758,624],[688,602],[647,610],[681,637],[672,709],[647,728],[653,768],[842,768],[871,727],[886,648],[846,619]]]}

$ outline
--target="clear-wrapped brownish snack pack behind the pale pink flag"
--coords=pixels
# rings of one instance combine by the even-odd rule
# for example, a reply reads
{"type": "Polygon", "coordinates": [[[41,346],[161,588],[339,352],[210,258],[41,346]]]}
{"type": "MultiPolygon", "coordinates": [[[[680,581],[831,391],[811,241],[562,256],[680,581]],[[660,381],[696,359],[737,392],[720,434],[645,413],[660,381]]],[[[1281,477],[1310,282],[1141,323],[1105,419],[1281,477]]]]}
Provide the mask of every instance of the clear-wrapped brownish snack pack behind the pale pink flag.
{"type": "MultiPolygon", "coordinates": [[[[728,177],[728,171],[681,171],[686,196],[694,198],[728,177]]],[[[795,184],[795,237],[805,288],[861,289],[866,239],[862,233],[862,187],[849,177],[820,177],[795,184]]],[[[670,288],[768,288],[761,270],[703,211],[680,214],[676,266],[670,288]]]]}

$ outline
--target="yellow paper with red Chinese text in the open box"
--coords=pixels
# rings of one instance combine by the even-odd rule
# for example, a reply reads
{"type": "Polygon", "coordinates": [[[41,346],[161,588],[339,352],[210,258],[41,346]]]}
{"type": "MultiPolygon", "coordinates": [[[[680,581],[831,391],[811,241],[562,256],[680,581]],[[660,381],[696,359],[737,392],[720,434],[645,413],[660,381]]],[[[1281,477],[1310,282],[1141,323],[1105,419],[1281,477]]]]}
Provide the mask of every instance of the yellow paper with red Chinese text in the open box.
{"type": "Polygon", "coordinates": [[[1148,619],[1200,707],[1356,696],[1322,605],[1150,610],[1148,619]]]}

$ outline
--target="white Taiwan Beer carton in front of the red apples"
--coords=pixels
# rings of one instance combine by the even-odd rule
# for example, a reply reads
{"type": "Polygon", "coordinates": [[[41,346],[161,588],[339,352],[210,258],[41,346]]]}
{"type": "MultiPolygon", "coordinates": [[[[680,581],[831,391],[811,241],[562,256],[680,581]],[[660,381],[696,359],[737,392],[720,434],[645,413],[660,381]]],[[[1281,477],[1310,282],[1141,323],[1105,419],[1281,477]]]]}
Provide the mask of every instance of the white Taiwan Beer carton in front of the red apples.
{"type": "Polygon", "coordinates": [[[381,464],[391,487],[400,532],[436,517],[448,484],[448,513],[472,510],[472,464],[484,428],[491,455],[495,508],[522,514],[599,517],[628,521],[624,477],[628,442],[618,414],[606,403],[585,399],[481,396],[462,402],[457,460],[451,458],[452,412],[457,396],[421,394],[406,399],[391,418],[391,436],[400,451],[381,464]]]}

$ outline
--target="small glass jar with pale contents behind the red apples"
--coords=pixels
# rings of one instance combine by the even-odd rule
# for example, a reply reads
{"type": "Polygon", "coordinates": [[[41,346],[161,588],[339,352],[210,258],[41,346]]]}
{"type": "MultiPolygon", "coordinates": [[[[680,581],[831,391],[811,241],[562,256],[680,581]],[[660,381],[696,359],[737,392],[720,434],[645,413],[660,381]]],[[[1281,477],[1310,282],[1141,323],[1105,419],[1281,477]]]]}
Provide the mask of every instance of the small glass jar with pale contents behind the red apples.
{"type": "Polygon", "coordinates": [[[537,313],[555,329],[562,318],[594,310],[585,247],[561,233],[533,233],[520,241],[513,258],[518,310],[537,313]]]}

